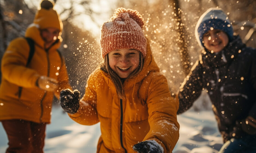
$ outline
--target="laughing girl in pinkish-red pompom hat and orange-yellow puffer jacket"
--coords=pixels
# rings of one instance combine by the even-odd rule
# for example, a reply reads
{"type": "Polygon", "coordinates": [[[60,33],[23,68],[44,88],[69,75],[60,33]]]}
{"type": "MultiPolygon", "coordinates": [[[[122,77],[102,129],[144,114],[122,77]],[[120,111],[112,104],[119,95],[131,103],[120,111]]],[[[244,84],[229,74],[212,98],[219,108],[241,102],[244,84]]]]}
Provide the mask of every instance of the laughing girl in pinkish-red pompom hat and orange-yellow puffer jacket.
{"type": "Polygon", "coordinates": [[[136,11],[118,8],[101,27],[102,65],[89,76],[83,98],[62,90],[60,104],[74,121],[100,122],[98,153],[170,153],[179,138],[179,102],[159,73],[136,11]]]}

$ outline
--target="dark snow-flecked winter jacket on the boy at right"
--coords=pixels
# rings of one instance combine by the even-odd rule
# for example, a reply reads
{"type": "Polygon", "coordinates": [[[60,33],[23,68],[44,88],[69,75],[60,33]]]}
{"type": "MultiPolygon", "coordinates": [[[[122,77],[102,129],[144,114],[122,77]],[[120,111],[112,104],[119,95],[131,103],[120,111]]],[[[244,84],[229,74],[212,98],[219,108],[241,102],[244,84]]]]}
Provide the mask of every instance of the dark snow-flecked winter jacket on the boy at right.
{"type": "MultiPolygon", "coordinates": [[[[246,47],[234,36],[219,53],[203,50],[179,92],[178,114],[190,108],[202,90],[208,92],[224,142],[245,131],[237,122],[256,119],[256,49],[246,47]]],[[[255,124],[255,120],[254,120],[255,124]]]]}

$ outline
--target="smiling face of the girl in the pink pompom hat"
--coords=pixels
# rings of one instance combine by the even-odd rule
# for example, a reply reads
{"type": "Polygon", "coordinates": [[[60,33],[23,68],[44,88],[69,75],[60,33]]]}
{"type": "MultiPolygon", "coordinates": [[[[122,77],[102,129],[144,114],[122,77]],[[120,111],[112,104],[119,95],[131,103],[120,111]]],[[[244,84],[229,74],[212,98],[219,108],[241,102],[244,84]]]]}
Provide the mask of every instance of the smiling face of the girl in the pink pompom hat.
{"type": "Polygon", "coordinates": [[[139,66],[139,51],[131,48],[108,53],[109,66],[120,78],[127,78],[139,66]]]}

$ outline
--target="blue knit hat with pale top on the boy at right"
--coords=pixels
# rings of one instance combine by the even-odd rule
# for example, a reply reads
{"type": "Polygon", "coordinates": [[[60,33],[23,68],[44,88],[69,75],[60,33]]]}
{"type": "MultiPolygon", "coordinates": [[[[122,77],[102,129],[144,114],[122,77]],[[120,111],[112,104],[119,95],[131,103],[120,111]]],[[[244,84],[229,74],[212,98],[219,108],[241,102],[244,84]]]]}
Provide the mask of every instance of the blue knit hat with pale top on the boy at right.
{"type": "Polygon", "coordinates": [[[232,25],[221,8],[209,8],[197,21],[195,36],[199,45],[203,46],[203,34],[211,28],[224,31],[228,35],[229,41],[232,40],[234,33],[232,25]]]}

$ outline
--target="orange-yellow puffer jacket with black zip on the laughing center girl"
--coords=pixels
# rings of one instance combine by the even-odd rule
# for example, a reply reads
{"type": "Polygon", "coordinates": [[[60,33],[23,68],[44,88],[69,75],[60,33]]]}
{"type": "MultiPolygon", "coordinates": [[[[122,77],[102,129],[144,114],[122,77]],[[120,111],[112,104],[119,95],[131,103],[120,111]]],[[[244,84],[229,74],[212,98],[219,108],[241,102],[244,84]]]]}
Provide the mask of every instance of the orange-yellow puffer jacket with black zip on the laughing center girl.
{"type": "Polygon", "coordinates": [[[150,139],[161,144],[165,153],[172,152],[179,138],[179,102],[171,97],[149,44],[142,71],[123,86],[126,98],[121,100],[110,76],[96,69],[88,78],[80,109],[69,116],[83,125],[100,122],[97,152],[123,153],[126,149],[135,153],[133,145],[150,139]]]}

